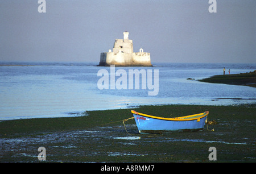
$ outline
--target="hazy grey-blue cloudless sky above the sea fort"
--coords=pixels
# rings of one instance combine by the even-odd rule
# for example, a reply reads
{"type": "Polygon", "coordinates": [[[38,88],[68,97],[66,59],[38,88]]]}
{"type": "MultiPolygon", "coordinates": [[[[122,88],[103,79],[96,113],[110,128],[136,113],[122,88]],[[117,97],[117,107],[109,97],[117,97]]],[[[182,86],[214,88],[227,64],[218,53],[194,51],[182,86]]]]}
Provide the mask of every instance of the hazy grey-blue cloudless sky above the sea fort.
{"type": "Polygon", "coordinates": [[[256,1],[0,0],[0,61],[95,62],[129,32],[152,63],[256,63],[256,1]]]}

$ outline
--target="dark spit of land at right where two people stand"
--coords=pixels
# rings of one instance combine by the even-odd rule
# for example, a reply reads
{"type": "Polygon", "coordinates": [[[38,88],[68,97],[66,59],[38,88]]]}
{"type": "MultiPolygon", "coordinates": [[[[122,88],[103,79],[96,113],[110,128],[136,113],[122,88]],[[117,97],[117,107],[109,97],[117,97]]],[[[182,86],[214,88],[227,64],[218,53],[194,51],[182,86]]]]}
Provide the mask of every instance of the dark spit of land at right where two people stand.
{"type": "Polygon", "coordinates": [[[199,81],[216,84],[243,85],[256,88],[256,70],[248,73],[216,75],[199,81]]]}

